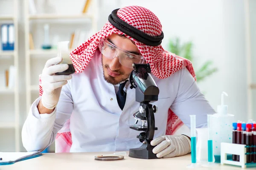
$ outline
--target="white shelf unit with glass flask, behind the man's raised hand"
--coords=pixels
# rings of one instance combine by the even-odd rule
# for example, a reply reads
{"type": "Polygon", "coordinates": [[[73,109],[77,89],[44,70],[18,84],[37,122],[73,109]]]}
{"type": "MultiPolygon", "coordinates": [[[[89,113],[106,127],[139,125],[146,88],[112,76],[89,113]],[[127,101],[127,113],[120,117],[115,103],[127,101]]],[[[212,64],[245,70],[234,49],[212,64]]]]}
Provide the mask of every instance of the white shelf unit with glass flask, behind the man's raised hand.
{"type": "MultiPolygon", "coordinates": [[[[84,0],[84,4],[87,0],[84,0]]],[[[31,49],[30,45],[30,33],[31,29],[34,31],[39,28],[43,23],[50,23],[54,26],[69,26],[84,23],[85,27],[90,27],[90,31],[96,33],[97,31],[97,0],[89,0],[90,12],[80,14],[29,14],[29,3],[24,3],[25,11],[25,65],[26,65],[26,113],[29,113],[29,109],[34,100],[39,96],[39,74],[41,74],[47,59],[56,57],[56,49],[42,49],[36,45],[38,43],[38,37],[32,36],[32,41],[35,44],[35,48],[31,49]],[[37,66],[35,68],[35,65],[37,66]],[[35,73],[35,71],[37,73],[35,73]],[[33,75],[32,75],[33,74],[33,75]],[[36,78],[35,78],[36,77],[36,78]],[[36,79],[36,80],[35,80],[36,79]]],[[[70,7],[71,8],[71,7],[70,7]]],[[[88,8],[88,6],[86,7],[88,8]]],[[[60,28],[61,29],[61,28],[60,28]]],[[[72,29],[72,28],[71,28],[72,29]]],[[[58,30],[55,28],[55,31],[58,30]]],[[[60,30],[61,32],[62,30],[60,30]]],[[[76,31],[76,26],[73,26],[73,31],[76,31]]],[[[58,34],[66,34],[64,31],[58,34]]],[[[68,33],[70,34],[70,33],[68,33]]],[[[71,35],[71,34],[70,34],[71,35]]],[[[66,39],[71,41],[70,39],[66,39]]],[[[33,45],[34,46],[34,45],[33,45]]],[[[70,49],[70,52],[73,49],[70,49]]]]}

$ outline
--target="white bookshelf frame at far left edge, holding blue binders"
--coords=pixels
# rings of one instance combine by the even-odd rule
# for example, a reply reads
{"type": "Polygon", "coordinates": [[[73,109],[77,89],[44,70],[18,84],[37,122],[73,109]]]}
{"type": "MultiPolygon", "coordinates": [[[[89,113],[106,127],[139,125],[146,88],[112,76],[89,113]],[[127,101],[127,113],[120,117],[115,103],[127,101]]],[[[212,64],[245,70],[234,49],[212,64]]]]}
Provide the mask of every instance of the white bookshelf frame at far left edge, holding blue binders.
{"type": "MultiPolygon", "coordinates": [[[[1,1],[0,1],[1,5],[1,1]]],[[[5,86],[0,87],[0,97],[1,99],[3,98],[11,98],[13,97],[14,100],[13,103],[9,103],[10,100],[2,101],[2,105],[12,105],[13,111],[10,111],[9,113],[14,113],[14,119],[12,122],[10,121],[5,121],[6,116],[4,115],[4,112],[0,111],[0,119],[2,120],[0,122],[0,129],[13,129],[14,131],[14,139],[15,139],[15,151],[19,152],[20,151],[20,144],[21,144],[21,139],[20,139],[20,108],[19,108],[19,58],[18,58],[18,5],[19,5],[19,0],[13,0],[13,14],[12,15],[0,15],[0,25],[2,23],[13,23],[14,24],[14,36],[15,36],[15,42],[14,42],[14,51],[0,51],[0,62],[5,62],[5,59],[12,59],[13,63],[12,65],[15,66],[15,79],[14,79],[14,88],[7,88],[5,86]],[[2,117],[3,116],[3,117],[2,117]]],[[[12,143],[12,141],[10,141],[12,143]]]]}

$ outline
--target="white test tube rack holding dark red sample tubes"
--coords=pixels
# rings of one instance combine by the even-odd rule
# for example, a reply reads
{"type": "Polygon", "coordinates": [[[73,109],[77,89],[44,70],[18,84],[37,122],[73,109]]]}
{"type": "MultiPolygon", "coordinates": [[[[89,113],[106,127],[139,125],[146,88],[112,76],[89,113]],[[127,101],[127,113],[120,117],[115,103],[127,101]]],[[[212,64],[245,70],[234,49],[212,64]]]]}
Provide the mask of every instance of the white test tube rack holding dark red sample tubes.
{"type": "MultiPolygon", "coordinates": [[[[256,154],[256,152],[251,152],[247,153],[246,149],[248,146],[245,144],[233,144],[233,143],[225,143],[221,142],[221,165],[224,164],[232,164],[232,165],[237,165],[241,166],[242,168],[246,168],[247,165],[253,164],[253,166],[256,166],[256,163],[247,163],[247,158],[246,156],[248,154],[256,154]],[[227,159],[227,154],[234,154],[234,155],[239,155],[240,160],[239,161],[233,161],[233,160],[228,160],[227,159]]],[[[249,147],[255,147],[254,145],[249,146],[249,147]]]]}

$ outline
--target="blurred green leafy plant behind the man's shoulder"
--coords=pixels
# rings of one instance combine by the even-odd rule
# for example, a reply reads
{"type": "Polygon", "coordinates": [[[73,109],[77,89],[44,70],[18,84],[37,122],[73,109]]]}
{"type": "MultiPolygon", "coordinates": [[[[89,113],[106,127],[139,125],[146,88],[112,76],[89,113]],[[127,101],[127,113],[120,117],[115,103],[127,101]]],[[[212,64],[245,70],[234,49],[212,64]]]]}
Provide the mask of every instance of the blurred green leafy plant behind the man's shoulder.
{"type": "Polygon", "coordinates": [[[218,68],[212,67],[213,62],[211,60],[207,60],[200,67],[196,67],[194,57],[192,55],[192,46],[193,44],[191,41],[181,44],[180,38],[178,37],[169,41],[169,51],[180,57],[189,59],[195,69],[197,82],[201,82],[202,80],[206,79],[206,77],[209,77],[218,71],[218,68]]]}

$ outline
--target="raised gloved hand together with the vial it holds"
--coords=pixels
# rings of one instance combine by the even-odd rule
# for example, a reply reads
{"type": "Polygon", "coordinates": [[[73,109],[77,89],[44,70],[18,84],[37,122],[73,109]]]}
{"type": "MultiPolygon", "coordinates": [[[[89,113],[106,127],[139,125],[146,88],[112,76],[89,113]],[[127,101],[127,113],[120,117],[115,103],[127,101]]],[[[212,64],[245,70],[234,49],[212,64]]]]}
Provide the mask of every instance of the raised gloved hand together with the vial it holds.
{"type": "Polygon", "coordinates": [[[73,73],[75,69],[69,56],[68,41],[58,42],[58,57],[47,60],[41,74],[44,90],[41,101],[44,108],[52,110],[56,107],[61,88],[72,78],[70,74],[73,73]]]}

